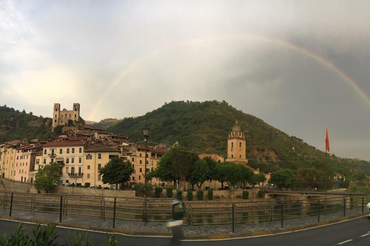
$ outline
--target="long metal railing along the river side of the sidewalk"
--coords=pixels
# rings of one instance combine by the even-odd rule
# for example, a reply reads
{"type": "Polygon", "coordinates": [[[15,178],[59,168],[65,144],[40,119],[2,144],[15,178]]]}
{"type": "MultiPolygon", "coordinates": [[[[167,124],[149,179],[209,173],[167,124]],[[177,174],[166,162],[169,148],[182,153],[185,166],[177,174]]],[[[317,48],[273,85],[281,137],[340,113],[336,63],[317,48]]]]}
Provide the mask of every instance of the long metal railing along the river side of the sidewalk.
{"type": "MultiPolygon", "coordinates": [[[[119,198],[111,196],[61,195],[0,192],[0,208],[47,212],[64,216],[92,216],[101,219],[144,221],[143,198],[119,198]]],[[[184,224],[228,225],[234,228],[242,223],[263,223],[287,219],[305,218],[356,209],[364,212],[370,197],[346,196],[327,199],[262,201],[262,202],[184,202],[184,224]]],[[[171,219],[172,199],[148,198],[147,221],[165,222],[171,219]]]]}

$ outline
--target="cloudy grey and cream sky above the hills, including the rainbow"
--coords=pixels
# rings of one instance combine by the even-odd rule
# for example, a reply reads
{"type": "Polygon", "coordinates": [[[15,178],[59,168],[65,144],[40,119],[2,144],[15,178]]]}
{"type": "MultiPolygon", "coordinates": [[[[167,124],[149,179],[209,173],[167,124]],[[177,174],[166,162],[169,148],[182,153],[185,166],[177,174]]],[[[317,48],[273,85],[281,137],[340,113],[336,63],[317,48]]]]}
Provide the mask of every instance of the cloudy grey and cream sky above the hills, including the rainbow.
{"type": "MultiPolygon", "coordinates": [[[[0,104],[85,120],[225,100],[370,160],[369,1],[0,0],[0,104]]],[[[231,119],[233,120],[233,119],[231,119]]]]}

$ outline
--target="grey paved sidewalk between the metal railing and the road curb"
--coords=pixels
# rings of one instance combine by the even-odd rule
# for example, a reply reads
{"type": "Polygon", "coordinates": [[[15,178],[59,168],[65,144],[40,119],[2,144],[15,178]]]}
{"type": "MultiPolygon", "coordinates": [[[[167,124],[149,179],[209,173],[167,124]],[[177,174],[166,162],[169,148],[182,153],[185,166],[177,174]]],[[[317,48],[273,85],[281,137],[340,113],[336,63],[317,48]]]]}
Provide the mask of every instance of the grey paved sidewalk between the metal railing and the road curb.
{"type": "MultiPolygon", "coordinates": [[[[367,211],[365,211],[367,212],[367,211]]],[[[346,210],[346,217],[360,215],[362,213],[361,208],[346,210]]],[[[0,217],[9,216],[9,209],[0,209],[0,217]]],[[[57,213],[43,213],[43,212],[29,212],[24,210],[12,210],[12,218],[17,220],[37,220],[39,222],[51,222],[59,223],[59,214],[57,213]]],[[[330,213],[327,215],[320,215],[320,222],[325,224],[330,220],[337,220],[343,218],[343,212],[330,213]]],[[[124,230],[131,235],[160,235],[160,236],[171,236],[171,228],[166,226],[167,222],[142,222],[142,221],[131,221],[131,220],[115,220],[115,228],[124,230]]],[[[299,219],[286,219],[283,221],[285,229],[296,228],[298,226],[312,225],[317,223],[317,216],[305,217],[299,219]]],[[[62,216],[62,224],[64,226],[70,225],[71,227],[78,228],[73,225],[78,225],[81,229],[98,230],[103,229],[104,231],[111,231],[113,220],[112,219],[100,219],[92,218],[87,216],[67,215],[62,216]]],[[[241,223],[235,225],[235,233],[252,233],[262,231],[272,231],[281,229],[281,221],[277,220],[274,222],[264,223],[241,223]]],[[[114,232],[114,230],[112,232],[114,232]]],[[[209,236],[209,235],[226,235],[232,234],[232,225],[209,225],[209,226],[182,226],[182,230],[185,236],[209,236]]]]}

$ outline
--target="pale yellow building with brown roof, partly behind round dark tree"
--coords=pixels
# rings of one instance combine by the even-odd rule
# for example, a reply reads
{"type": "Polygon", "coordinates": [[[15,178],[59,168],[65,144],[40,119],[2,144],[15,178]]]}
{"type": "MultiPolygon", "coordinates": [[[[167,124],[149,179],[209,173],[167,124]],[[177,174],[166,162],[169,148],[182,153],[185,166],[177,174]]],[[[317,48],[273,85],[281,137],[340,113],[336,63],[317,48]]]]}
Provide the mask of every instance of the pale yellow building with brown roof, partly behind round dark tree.
{"type": "Polygon", "coordinates": [[[120,155],[120,150],[104,145],[90,145],[85,148],[83,161],[83,185],[106,186],[103,184],[99,169],[104,167],[112,158],[120,155]]]}

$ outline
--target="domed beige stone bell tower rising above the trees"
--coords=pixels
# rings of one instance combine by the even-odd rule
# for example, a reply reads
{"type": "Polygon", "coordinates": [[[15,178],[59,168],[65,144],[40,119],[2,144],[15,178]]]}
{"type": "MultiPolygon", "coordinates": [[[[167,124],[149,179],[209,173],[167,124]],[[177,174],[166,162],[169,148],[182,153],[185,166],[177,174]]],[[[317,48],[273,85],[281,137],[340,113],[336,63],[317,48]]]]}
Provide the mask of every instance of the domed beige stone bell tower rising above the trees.
{"type": "Polygon", "coordinates": [[[231,128],[231,132],[228,137],[228,158],[226,161],[233,161],[239,163],[248,163],[245,155],[246,140],[245,134],[242,132],[242,128],[238,124],[238,120],[231,128]]]}

